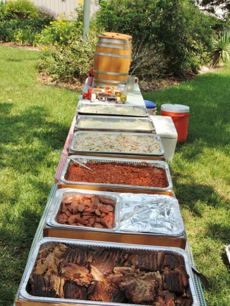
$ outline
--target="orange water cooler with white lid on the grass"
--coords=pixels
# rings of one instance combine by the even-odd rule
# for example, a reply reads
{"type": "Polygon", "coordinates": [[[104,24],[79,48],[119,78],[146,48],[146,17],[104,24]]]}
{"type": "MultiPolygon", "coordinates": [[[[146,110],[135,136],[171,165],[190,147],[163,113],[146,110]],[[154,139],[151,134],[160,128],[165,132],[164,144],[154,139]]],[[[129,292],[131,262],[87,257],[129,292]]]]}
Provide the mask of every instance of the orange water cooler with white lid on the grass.
{"type": "Polygon", "coordinates": [[[183,142],[187,139],[189,107],[182,104],[162,104],[161,115],[172,118],[178,133],[177,142],[183,142]]]}

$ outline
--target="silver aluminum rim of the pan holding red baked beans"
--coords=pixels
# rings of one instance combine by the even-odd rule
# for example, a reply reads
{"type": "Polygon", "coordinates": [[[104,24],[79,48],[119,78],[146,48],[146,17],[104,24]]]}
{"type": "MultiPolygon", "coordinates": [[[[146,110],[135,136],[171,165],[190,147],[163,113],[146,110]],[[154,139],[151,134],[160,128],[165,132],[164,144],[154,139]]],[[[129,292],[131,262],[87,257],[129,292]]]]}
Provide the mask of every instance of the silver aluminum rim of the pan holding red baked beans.
{"type": "MultiPolygon", "coordinates": [[[[90,161],[94,162],[119,162],[119,163],[127,163],[127,164],[140,164],[140,163],[148,163],[150,166],[154,166],[157,168],[163,168],[166,173],[166,178],[168,181],[168,186],[161,188],[161,187],[146,187],[146,186],[136,186],[136,185],[118,185],[118,184],[105,184],[105,183],[88,183],[88,182],[77,182],[77,181],[69,181],[66,180],[65,175],[68,169],[69,164],[73,164],[73,161],[69,159],[66,160],[66,164],[63,168],[62,175],[60,177],[60,183],[66,185],[80,185],[80,186],[97,186],[97,187],[106,187],[106,188],[124,188],[126,190],[143,190],[143,191],[172,191],[172,180],[169,172],[168,164],[165,161],[148,161],[148,160],[134,160],[134,159],[121,159],[121,158],[109,158],[109,157],[95,157],[95,156],[81,156],[81,155],[72,155],[71,158],[74,158],[82,163],[87,163],[90,161]]],[[[90,171],[90,170],[89,170],[90,171]]]]}

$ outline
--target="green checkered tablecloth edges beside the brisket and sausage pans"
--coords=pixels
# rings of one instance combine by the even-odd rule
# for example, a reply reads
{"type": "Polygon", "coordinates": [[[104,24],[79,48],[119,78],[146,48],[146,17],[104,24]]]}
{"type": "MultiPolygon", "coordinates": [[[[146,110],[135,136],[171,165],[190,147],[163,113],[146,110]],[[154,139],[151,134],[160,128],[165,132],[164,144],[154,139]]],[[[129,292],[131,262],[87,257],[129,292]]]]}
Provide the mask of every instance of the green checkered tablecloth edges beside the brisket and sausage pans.
{"type": "MultiPolygon", "coordinates": [[[[50,193],[49,193],[49,198],[48,198],[48,201],[47,201],[47,205],[46,205],[46,207],[45,207],[45,209],[43,211],[40,223],[39,223],[39,225],[37,227],[37,231],[36,231],[36,233],[34,235],[32,246],[31,246],[31,249],[30,249],[30,252],[29,252],[29,256],[28,256],[28,261],[27,261],[27,264],[26,264],[26,267],[25,267],[25,271],[27,270],[27,267],[29,265],[29,262],[30,262],[30,259],[31,259],[32,253],[33,253],[33,249],[34,249],[36,243],[38,242],[38,240],[43,238],[43,227],[44,227],[44,225],[46,223],[46,218],[47,218],[47,215],[49,213],[49,209],[50,209],[50,206],[51,206],[51,203],[52,203],[52,200],[53,200],[53,197],[54,197],[56,191],[57,191],[57,184],[54,184],[52,186],[52,188],[51,188],[50,193]]],[[[189,257],[190,263],[193,266],[195,266],[193,254],[192,254],[192,251],[191,251],[190,244],[189,244],[188,240],[187,240],[187,244],[186,244],[186,249],[185,250],[188,253],[188,257],[189,257]]],[[[23,277],[22,277],[22,279],[23,279],[23,277]]],[[[196,289],[197,289],[197,295],[198,295],[198,299],[199,299],[199,302],[200,302],[200,306],[207,306],[205,298],[204,298],[204,293],[203,293],[203,290],[202,290],[202,287],[201,287],[201,284],[200,284],[200,280],[197,277],[197,275],[195,275],[195,274],[194,274],[194,279],[195,279],[195,286],[196,286],[196,289]]],[[[20,286],[19,286],[19,288],[20,288],[20,286]]],[[[18,295],[18,293],[17,293],[17,295],[18,295]]]]}

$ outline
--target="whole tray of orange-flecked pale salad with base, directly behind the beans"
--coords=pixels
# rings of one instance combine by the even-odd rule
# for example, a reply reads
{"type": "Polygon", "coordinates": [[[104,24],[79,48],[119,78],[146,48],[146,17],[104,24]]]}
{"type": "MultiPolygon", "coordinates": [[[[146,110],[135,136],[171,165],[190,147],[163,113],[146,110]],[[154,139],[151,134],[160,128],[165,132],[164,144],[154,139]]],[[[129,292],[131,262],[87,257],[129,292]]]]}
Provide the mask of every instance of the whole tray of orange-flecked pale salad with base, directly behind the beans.
{"type": "Polygon", "coordinates": [[[162,145],[161,137],[156,134],[140,134],[140,133],[125,133],[125,132],[109,132],[109,131],[77,131],[73,134],[73,139],[69,149],[69,155],[85,155],[85,156],[103,156],[103,157],[114,157],[119,158],[124,156],[125,158],[135,158],[135,159],[149,159],[149,160],[164,160],[164,148],[162,145]],[[107,148],[104,147],[97,149],[97,137],[99,142],[101,142],[101,146],[105,146],[106,142],[110,142],[117,145],[128,145],[128,141],[130,140],[130,147],[127,147],[127,151],[130,152],[117,152],[117,150],[111,149],[110,145],[107,148]],[[126,138],[126,139],[124,139],[126,138]],[[132,138],[136,138],[136,143],[132,138]],[[85,145],[85,143],[89,140],[89,144],[85,145]],[[119,141],[117,141],[119,140],[119,141]],[[141,141],[140,141],[141,140],[141,141]],[[81,142],[83,142],[83,148],[81,149],[81,142]],[[141,148],[141,144],[145,146],[145,148],[141,148]],[[150,147],[150,144],[152,146],[150,147]],[[135,150],[132,148],[133,145],[136,145],[135,150]],[[83,150],[85,147],[88,149],[83,150]],[[139,152],[138,152],[139,150],[139,152]],[[152,152],[144,153],[144,150],[152,150],[152,152]]]}

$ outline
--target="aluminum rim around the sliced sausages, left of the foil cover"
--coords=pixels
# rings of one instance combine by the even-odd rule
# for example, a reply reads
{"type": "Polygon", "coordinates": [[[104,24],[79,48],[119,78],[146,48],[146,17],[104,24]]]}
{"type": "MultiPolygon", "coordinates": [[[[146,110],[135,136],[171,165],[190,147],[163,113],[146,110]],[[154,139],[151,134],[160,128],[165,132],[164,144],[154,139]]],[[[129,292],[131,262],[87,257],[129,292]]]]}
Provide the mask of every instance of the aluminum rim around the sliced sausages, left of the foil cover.
{"type": "Polygon", "coordinates": [[[92,191],[92,190],[83,190],[83,189],[71,189],[71,188],[63,188],[57,190],[55,196],[53,198],[51,207],[49,209],[48,217],[46,220],[47,225],[56,226],[58,228],[67,228],[67,229],[78,229],[78,230],[86,230],[86,231],[98,231],[98,232],[114,232],[119,228],[119,212],[120,212],[120,197],[117,193],[109,193],[103,191],[92,191]],[[111,229],[109,228],[95,228],[95,227],[86,227],[86,226],[77,226],[77,225],[65,225],[60,224],[56,221],[56,216],[59,211],[62,199],[66,195],[74,195],[76,193],[80,194],[92,194],[92,195],[103,195],[108,198],[112,198],[115,200],[115,226],[111,229]]]}

